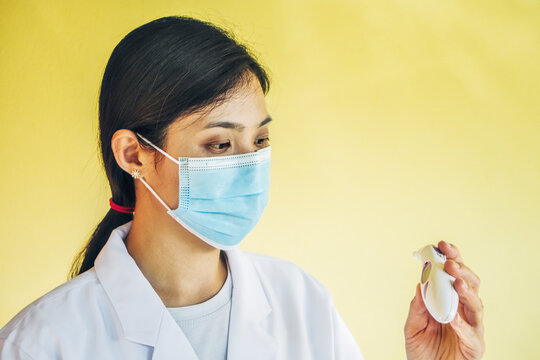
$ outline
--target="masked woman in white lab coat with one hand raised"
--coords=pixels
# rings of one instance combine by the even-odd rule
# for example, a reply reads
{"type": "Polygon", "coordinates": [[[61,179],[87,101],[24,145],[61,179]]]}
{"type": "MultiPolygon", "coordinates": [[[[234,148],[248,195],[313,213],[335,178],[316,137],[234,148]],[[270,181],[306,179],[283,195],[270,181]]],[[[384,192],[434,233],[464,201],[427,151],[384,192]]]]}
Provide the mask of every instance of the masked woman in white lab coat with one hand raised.
{"type": "MultiPolygon", "coordinates": [[[[317,279],[236,246],[268,201],[268,88],[210,23],[165,17],[122,39],[99,98],[111,209],[72,279],[0,330],[2,359],[363,359],[317,279]]],[[[477,277],[439,246],[463,320],[435,323],[417,287],[407,356],[479,359],[477,277]]]]}

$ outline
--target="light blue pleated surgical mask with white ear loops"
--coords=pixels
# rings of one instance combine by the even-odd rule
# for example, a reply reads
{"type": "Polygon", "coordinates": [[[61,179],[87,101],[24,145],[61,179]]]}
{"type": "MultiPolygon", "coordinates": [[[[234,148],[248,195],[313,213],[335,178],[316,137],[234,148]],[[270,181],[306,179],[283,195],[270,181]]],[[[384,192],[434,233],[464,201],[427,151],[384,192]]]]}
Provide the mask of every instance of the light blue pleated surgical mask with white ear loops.
{"type": "Polygon", "coordinates": [[[256,152],[213,157],[179,157],[152,144],[178,164],[178,208],[167,204],[139,180],[188,231],[222,250],[230,249],[255,227],[268,203],[270,146],[256,152]]]}

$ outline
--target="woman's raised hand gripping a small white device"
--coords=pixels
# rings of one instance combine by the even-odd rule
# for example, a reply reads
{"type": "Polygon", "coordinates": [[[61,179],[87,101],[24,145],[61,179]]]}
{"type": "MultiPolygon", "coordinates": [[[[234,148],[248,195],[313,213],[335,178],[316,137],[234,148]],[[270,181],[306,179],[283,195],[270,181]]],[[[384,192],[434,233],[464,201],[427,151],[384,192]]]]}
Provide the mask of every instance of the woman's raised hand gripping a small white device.
{"type": "Polygon", "coordinates": [[[438,248],[446,255],[444,271],[456,278],[458,313],[451,322],[438,323],[424,305],[418,283],[404,328],[407,359],[481,359],[486,346],[480,278],[463,264],[457,247],[440,241],[438,248]]]}

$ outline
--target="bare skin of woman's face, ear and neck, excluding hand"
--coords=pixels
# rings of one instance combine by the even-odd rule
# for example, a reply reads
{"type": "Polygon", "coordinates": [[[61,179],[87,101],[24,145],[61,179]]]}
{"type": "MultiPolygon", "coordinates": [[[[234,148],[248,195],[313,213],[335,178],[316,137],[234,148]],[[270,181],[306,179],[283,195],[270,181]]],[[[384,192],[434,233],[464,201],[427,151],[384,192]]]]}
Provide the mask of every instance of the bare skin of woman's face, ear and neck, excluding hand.
{"type": "MultiPolygon", "coordinates": [[[[268,115],[262,88],[251,76],[248,85],[239,87],[229,100],[211,111],[173,122],[161,148],[173,158],[254,152],[270,145],[269,124],[259,127],[268,115]],[[216,121],[237,123],[243,128],[205,128],[216,121]]],[[[138,139],[131,130],[115,132],[111,146],[118,165],[128,173],[139,170],[159,197],[176,209],[178,165],[154,148],[142,147],[138,139]]],[[[135,180],[135,193],[133,225],[125,243],[165,306],[194,305],[212,298],[227,278],[224,252],[176,222],[139,180],[135,180]]]]}

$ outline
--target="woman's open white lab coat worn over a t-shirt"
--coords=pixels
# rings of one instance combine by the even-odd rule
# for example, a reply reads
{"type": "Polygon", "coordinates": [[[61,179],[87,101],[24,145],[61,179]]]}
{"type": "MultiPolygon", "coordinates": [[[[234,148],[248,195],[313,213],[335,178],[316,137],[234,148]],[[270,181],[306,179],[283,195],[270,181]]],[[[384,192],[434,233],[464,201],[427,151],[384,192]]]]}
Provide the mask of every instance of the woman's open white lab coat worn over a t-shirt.
{"type": "MultiPolygon", "coordinates": [[[[0,359],[197,360],[116,228],[95,266],[0,330],[0,359]]],[[[229,360],[363,360],[327,289],[294,263],[225,250],[233,281],[229,360]]],[[[209,342],[212,339],[208,339],[209,342]]]]}

